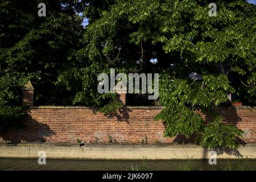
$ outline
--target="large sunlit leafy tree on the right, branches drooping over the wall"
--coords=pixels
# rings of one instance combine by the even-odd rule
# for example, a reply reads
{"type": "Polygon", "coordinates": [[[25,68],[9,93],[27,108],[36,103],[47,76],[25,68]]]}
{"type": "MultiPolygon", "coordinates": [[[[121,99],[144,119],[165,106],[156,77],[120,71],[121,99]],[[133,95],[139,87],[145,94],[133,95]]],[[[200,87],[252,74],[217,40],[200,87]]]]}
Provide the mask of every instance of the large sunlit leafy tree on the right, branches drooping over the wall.
{"type": "Polygon", "coordinates": [[[70,89],[75,84],[70,75],[81,81],[83,91],[76,102],[89,104],[93,98],[100,104],[106,96],[93,92],[96,82],[88,78],[110,68],[162,73],[160,100],[165,109],[156,119],[166,123],[166,136],[197,135],[204,147],[237,147],[236,138],[243,132],[222,123],[211,109],[225,104],[228,93],[255,105],[254,6],[216,1],[217,16],[209,16],[211,1],[205,0],[88,2],[84,47],[76,54],[83,68],[75,64],[73,72],[65,70],[59,77],[70,89]],[[152,64],[152,58],[158,63],[152,64]],[[203,79],[189,77],[192,72],[203,79]],[[212,113],[212,118],[204,122],[195,110],[212,113]]]}

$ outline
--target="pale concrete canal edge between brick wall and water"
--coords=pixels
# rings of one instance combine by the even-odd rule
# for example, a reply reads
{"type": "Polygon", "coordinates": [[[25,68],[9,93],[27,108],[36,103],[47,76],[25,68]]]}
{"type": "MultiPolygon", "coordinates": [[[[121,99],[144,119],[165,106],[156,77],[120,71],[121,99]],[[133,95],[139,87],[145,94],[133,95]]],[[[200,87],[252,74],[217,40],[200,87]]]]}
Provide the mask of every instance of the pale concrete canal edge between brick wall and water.
{"type": "MultiPolygon", "coordinates": [[[[0,143],[0,158],[39,158],[45,151],[52,159],[209,159],[209,149],[193,144],[79,144],[65,143],[0,143]]],[[[218,159],[256,159],[256,144],[246,144],[238,150],[216,150],[218,159]]]]}

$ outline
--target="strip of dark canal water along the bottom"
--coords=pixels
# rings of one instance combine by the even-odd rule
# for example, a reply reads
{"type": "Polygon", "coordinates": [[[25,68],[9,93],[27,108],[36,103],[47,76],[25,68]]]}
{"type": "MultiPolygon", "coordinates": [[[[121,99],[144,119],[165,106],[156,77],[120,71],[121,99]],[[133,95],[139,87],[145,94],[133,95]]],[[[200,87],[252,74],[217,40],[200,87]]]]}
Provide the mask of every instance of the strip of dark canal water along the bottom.
{"type": "MultiPolygon", "coordinates": [[[[188,166],[188,160],[146,160],[147,170],[179,170],[188,166]]],[[[0,170],[131,170],[140,168],[142,160],[63,160],[47,159],[39,165],[38,159],[0,159],[0,170]]],[[[256,170],[256,160],[217,160],[210,165],[208,160],[191,160],[193,170],[256,170]]]]}

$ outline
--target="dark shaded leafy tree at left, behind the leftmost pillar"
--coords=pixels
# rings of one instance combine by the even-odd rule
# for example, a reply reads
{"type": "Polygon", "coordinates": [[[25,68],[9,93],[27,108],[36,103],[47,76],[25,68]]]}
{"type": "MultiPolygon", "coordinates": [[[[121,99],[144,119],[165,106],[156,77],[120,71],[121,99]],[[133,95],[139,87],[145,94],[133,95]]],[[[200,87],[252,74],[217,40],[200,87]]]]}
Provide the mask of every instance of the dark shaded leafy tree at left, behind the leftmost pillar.
{"type": "Polygon", "coordinates": [[[31,80],[39,104],[65,104],[69,96],[55,86],[57,73],[79,47],[82,31],[73,1],[44,1],[46,17],[38,16],[41,1],[0,3],[0,121],[1,129],[21,116],[20,88],[31,80]]]}

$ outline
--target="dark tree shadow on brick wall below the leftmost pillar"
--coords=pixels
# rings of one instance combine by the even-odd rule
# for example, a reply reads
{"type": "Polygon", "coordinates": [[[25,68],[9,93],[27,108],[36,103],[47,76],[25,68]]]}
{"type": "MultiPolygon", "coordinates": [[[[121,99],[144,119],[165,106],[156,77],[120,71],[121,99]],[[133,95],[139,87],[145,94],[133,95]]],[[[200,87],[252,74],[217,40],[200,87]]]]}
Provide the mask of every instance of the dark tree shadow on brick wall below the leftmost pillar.
{"type": "Polygon", "coordinates": [[[31,111],[25,110],[22,129],[9,129],[0,133],[0,138],[11,144],[21,142],[46,142],[46,138],[55,134],[48,125],[39,123],[31,117],[31,111]]]}

